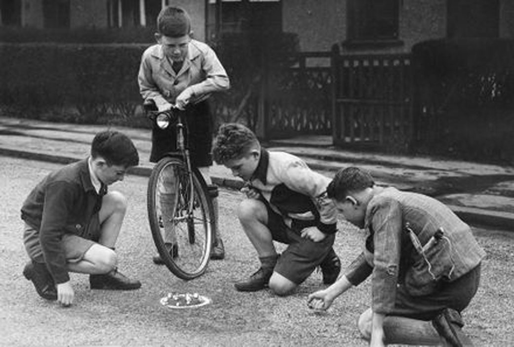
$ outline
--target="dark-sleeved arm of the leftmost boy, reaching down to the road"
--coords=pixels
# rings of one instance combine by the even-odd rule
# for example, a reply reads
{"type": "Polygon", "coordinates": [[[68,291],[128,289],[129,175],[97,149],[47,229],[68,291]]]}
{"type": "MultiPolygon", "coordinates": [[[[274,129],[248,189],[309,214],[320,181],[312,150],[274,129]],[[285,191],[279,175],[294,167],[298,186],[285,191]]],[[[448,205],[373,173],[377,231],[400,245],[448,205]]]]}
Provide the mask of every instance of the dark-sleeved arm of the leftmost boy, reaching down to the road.
{"type": "Polygon", "coordinates": [[[46,266],[56,284],[69,281],[61,239],[74,195],[74,189],[67,182],[53,182],[45,193],[40,242],[46,266]]]}

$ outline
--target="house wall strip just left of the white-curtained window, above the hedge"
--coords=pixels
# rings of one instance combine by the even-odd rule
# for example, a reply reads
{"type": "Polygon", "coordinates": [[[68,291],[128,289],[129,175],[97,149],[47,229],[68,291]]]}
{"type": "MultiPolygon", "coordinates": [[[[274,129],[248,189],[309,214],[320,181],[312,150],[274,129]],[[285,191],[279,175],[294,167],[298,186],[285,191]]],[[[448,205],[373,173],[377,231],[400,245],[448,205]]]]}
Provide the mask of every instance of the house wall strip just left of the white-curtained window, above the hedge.
{"type": "Polygon", "coordinates": [[[71,0],[70,27],[107,27],[107,1],[106,0],[71,0]]]}

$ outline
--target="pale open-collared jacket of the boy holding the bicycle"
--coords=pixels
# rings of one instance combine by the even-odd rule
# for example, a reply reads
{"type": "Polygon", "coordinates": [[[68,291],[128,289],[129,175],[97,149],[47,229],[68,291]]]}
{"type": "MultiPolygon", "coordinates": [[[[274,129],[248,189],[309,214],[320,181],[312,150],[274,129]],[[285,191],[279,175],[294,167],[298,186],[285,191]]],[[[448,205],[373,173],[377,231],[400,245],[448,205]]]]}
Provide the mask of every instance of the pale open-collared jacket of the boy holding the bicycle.
{"type": "Polygon", "coordinates": [[[230,87],[227,72],[214,50],[196,40],[189,42],[187,57],[178,74],[164,56],[161,45],[147,48],[141,57],[138,83],[143,100],[154,100],[157,106],[175,103],[186,88],[191,88],[191,103],[195,104],[212,92],[230,87]]]}

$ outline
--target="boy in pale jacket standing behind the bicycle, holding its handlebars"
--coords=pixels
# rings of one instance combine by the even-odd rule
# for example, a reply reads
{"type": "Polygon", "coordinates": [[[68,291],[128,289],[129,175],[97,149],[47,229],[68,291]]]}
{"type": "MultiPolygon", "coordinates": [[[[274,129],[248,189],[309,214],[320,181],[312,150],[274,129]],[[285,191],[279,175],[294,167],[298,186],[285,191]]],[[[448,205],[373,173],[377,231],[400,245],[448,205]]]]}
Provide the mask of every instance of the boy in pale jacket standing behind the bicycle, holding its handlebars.
{"type": "MultiPolygon", "coordinates": [[[[191,38],[191,20],[179,7],[164,7],[157,16],[157,44],[146,49],[141,58],[138,83],[144,101],[154,101],[158,111],[165,111],[175,104],[187,113],[189,130],[188,147],[191,162],[212,187],[209,167],[212,165],[212,115],[208,98],[211,93],[230,87],[227,72],[212,48],[191,38]],[[186,107],[187,106],[187,107],[186,107]]],[[[166,153],[176,151],[176,132],[173,127],[152,130],[151,162],[157,162],[166,153]]],[[[172,185],[168,185],[170,187],[172,185]]],[[[217,222],[217,190],[210,189],[217,222]]],[[[175,193],[161,194],[163,199],[174,200],[175,193]]],[[[162,202],[162,206],[171,206],[162,202]]],[[[168,212],[170,213],[170,212],[168,212]]],[[[163,215],[167,211],[162,211],[163,215]]],[[[163,218],[167,232],[172,229],[163,218]]],[[[216,228],[211,259],[223,259],[225,249],[216,228]]],[[[170,241],[170,250],[172,243],[170,241]]],[[[154,263],[162,264],[159,256],[154,263]]]]}

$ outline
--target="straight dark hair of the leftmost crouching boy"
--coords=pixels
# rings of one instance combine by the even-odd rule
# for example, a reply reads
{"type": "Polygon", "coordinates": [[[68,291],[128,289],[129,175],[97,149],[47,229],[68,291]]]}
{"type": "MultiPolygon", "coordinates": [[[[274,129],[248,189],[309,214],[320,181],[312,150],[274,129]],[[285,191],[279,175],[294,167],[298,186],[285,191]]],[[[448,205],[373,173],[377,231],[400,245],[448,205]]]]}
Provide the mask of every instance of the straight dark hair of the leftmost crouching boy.
{"type": "Polygon", "coordinates": [[[108,166],[128,168],[139,164],[139,155],[132,140],[125,134],[111,130],[95,135],[91,143],[91,157],[102,157],[108,166]]]}

